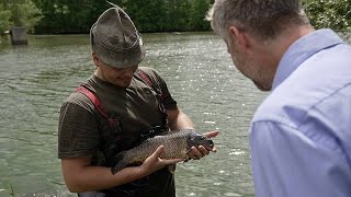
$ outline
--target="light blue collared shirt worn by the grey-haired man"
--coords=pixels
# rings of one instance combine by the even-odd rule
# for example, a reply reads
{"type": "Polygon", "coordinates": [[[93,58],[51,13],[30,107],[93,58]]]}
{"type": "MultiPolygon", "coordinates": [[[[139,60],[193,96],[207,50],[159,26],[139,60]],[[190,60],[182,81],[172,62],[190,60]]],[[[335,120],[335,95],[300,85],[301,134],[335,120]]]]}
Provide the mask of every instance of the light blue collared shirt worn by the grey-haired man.
{"type": "Polygon", "coordinates": [[[331,30],[284,54],[250,148],[258,197],[351,196],[351,47],[331,30]]]}

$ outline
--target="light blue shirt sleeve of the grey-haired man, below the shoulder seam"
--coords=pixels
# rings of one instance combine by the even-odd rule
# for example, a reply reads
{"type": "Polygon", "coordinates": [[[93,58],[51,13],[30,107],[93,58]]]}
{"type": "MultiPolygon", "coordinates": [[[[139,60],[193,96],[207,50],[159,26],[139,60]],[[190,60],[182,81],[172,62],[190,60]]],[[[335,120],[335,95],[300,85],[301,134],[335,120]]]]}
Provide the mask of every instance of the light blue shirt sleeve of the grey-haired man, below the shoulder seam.
{"type": "Polygon", "coordinates": [[[328,135],[252,123],[251,159],[258,197],[330,197],[351,193],[348,159],[328,135]]]}

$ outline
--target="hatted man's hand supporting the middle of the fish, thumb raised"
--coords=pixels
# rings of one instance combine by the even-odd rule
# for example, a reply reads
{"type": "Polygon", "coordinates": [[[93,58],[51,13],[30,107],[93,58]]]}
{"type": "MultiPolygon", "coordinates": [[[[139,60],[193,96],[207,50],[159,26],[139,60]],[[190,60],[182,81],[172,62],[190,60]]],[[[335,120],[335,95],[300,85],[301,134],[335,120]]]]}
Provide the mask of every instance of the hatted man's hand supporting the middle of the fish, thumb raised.
{"type": "Polygon", "coordinates": [[[143,164],[140,165],[140,171],[143,174],[145,173],[146,175],[149,175],[165,167],[166,165],[172,165],[178,162],[184,161],[184,159],[160,159],[163,149],[163,146],[158,147],[157,150],[143,162],[143,164]]]}

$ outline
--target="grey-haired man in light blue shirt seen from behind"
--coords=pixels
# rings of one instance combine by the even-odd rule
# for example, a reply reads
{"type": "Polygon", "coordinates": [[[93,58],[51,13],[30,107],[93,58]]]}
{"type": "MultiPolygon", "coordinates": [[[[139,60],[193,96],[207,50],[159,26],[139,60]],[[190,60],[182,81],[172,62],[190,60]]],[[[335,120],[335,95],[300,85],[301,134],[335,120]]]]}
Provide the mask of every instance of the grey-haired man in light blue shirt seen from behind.
{"type": "Polygon", "coordinates": [[[250,124],[256,195],[351,194],[351,47],[314,30],[298,0],[216,0],[236,68],[271,91],[250,124]]]}

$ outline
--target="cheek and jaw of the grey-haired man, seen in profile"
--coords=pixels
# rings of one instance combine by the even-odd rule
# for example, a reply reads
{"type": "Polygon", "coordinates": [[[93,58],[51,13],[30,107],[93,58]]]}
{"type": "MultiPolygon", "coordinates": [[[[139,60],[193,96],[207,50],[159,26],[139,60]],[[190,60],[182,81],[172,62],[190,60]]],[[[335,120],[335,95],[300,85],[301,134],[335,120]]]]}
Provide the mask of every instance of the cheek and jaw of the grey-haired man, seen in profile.
{"type": "Polygon", "coordinates": [[[238,36],[234,37],[231,35],[225,38],[227,50],[234,65],[245,77],[249,78],[258,89],[261,91],[270,91],[272,84],[265,80],[265,71],[262,62],[257,60],[259,55],[254,53],[252,46],[248,48],[246,44],[242,44],[242,40],[238,42],[236,38],[238,38],[238,36]]]}

